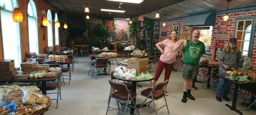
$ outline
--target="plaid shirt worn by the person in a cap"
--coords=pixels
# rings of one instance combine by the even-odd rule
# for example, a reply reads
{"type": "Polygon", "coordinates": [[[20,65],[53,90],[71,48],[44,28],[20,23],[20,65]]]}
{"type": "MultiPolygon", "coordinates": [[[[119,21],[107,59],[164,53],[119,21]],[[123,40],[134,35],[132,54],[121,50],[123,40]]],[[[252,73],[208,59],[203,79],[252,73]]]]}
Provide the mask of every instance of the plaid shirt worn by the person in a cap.
{"type": "Polygon", "coordinates": [[[242,54],[239,50],[238,54],[236,55],[233,52],[229,51],[229,53],[226,53],[225,48],[222,49],[221,55],[219,56],[219,69],[224,72],[226,69],[224,68],[225,65],[230,66],[230,68],[238,68],[238,63],[244,62],[244,59],[242,58],[242,54]]]}

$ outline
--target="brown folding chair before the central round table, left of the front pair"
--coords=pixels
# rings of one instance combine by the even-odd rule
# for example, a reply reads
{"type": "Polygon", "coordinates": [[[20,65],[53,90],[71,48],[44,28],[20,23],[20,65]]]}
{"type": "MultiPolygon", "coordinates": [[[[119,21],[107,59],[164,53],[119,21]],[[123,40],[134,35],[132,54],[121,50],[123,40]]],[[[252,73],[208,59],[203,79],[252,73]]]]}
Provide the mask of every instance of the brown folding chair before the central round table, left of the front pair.
{"type": "MultiPolygon", "coordinates": [[[[129,100],[132,100],[132,103],[134,105],[136,105],[134,103],[133,99],[137,97],[137,93],[133,92],[133,91],[129,91],[128,87],[125,84],[122,84],[122,83],[116,83],[116,82],[114,82],[112,80],[109,80],[109,84],[110,84],[110,86],[111,86],[111,88],[113,90],[117,90],[117,92],[113,92],[110,95],[111,95],[111,98],[116,99],[118,110],[113,108],[113,107],[109,107],[109,104],[110,104],[110,101],[111,101],[111,98],[110,98],[109,99],[109,103],[108,103],[108,109],[107,109],[106,115],[108,115],[109,108],[112,108],[114,110],[122,112],[122,111],[120,111],[118,101],[120,101],[120,103],[121,103],[121,101],[122,102],[126,102],[125,110],[124,110],[124,112],[122,112],[125,115],[129,100]]],[[[135,108],[136,112],[138,112],[138,114],[139,114],[139,111],[138,111],[136,106],[132,107],[132,108],[135,108]]]]}

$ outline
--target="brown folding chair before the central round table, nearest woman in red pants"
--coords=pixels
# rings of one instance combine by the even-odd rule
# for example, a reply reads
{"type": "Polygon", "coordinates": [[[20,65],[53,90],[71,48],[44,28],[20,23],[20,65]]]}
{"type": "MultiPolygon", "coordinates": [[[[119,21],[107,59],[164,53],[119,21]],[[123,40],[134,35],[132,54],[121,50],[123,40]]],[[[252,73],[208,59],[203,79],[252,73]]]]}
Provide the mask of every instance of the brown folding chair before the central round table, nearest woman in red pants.
{"type": "MultiPolygon", "coordinates": [[[[154,109],[155,109],[155,115],[157,115],[157,110],[161,109],[161,108],[164,107],[164,106],[166,106],[167,111],[168,111],[168,114],[170,114],[170,113],[169,113],[168,106],[167,106],[166,98],[165,98],[165,93],[163,92],[163,86],[165,86],[165,84],[166,84],[168,81],[169,81],[169,80],[165,80],[164,82],[160,82],[160,83],[156,84],[153,89],[152,89],[152,88],[148,88],[148,89],[143,90],[143,91],[141,92],[141,96],[146,97],[146,99],[143,101],[143,103],[141,104],[141,106],[139,107],[138,110],[140,110],[140,108],[143,106],[143,104],[145,103],[145,101],[146,101],[147,99],[151,99],[151,101],[149,101],[149,102],[147,102],[147,103],[149,103],[149,104],[148,104],[148,107],[149,107],[149,105],[150,105],[151,102],[153,101],[154,109]],[[161,91],[160,91],[160,90],[161,90],[161,91]],[[154,100],[161,99],[162,97],[165,98],[165,105],[156,110],[154,100]]],[[[145,103],[145,104],[147,104],[147,103],[145,103]]]]}

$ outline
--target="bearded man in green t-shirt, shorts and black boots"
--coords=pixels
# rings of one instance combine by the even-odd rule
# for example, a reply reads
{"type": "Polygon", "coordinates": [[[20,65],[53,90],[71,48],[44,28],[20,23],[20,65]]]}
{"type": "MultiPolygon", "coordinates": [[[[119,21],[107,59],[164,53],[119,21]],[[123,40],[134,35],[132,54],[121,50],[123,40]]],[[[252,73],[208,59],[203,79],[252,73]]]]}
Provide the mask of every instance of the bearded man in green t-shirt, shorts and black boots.
{"type": "Polygon", "coordinates": [[[193,79],[197,78],[199,73],[199,60],[203,54],[205,54],[204,43],[199,41],[200,31],[194,30],[192,33],[192,39],[188,41],[187,47],[183,46],[181,51],[185,52],[183,58],[182,77],[183,81],[183,97],[181,102],[186,103],[187,97],[191,100],[195,100],[195,97],[191,95],[191,88],[193,85],[193,79]]]}

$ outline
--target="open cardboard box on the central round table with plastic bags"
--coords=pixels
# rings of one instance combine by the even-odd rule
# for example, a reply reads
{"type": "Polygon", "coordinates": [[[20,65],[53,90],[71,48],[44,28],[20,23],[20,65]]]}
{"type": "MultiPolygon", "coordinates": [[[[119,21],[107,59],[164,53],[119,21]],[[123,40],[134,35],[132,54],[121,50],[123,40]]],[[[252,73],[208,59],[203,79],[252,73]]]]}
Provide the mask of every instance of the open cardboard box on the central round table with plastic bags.
{"type": "Polygon", "coordinates": [[[127,67],[129,69],[136,69],[136,73],[145,73],[147,70],[147,59],[130,58],[127,63],[127,67]]]}

